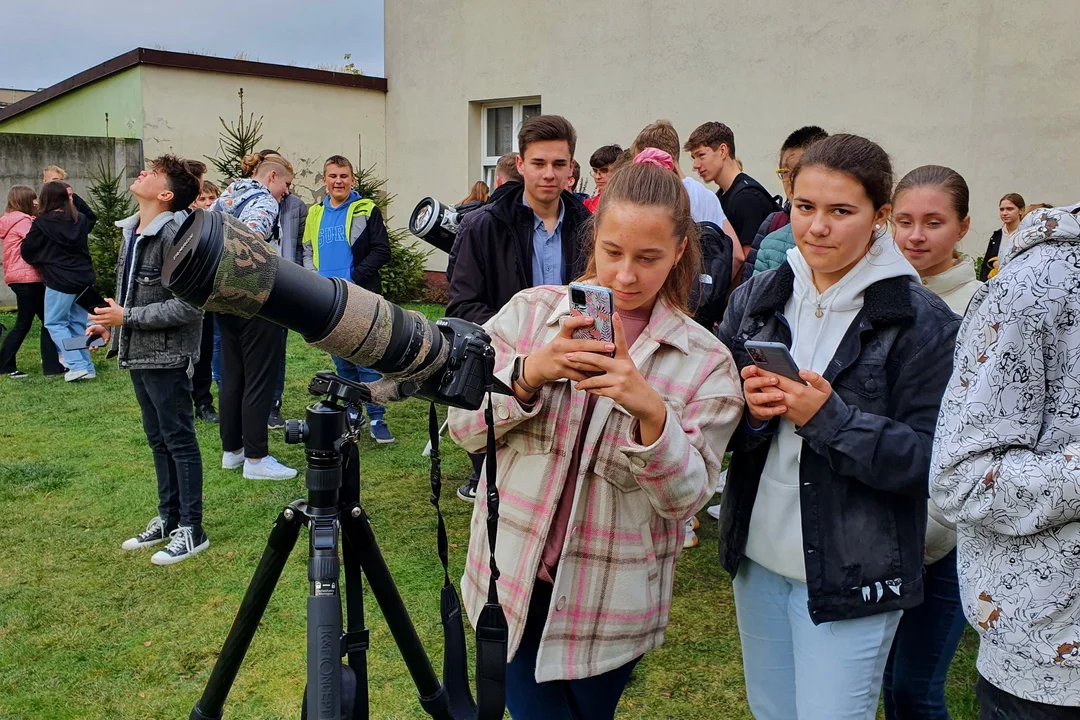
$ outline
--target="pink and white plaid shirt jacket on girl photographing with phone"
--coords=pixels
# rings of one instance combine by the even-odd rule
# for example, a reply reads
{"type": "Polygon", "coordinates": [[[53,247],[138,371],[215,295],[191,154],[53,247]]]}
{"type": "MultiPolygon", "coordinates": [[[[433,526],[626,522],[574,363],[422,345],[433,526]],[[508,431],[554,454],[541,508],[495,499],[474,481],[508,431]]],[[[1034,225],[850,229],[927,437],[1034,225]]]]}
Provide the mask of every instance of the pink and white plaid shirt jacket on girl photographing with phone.
{"type": "MultiPolygon", "coordinates": [[[[568,314],[565,287],[514,296],[485,326],[496,351],[496,375],[509,384],[514,358],[551,341],[568,314]]],[[[596,403],[537,656],[538,682],[600,675],[663,642],[685,520],[712,498],[742,415],[742,385],[731,354],[670,304],[658,301],[631,356],[664,397],[667,424],[660,439],[644,447],[633,439],[636,420],[630,413],[607,398],[596,403]]],[[[495,399],[502,499],[496,559],[511,657],[521,642],[584,407],[585,393],[566,381],[545,385],[530,408],[513,397],[495,399]]],[[[485,447],[483,411],[451,409],[449,429],[467,450],[485,447]]],[[[482,486],[461,579],[473,623],[490,576],[486,518],[482,486]]]]}

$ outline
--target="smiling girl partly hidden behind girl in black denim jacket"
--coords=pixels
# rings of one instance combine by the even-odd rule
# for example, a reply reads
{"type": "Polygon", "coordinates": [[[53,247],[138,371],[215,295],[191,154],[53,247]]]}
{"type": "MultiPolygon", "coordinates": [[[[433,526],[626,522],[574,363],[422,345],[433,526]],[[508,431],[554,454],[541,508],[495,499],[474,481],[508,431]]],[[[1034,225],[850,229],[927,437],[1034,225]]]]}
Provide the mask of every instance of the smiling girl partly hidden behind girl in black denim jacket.
{"type": "MultiPolygon", "coordinates": [[[[954,169],[923,165],[892,195],[896,245],[922,284],[963,315],[982,283],[957,247],[971,226],[968,184],[954,169]]],[[[885,671],[886,720],[948,720],[945,680],[968,624],[960,603],[956,526],[928,502],[926,600],[904,613],[885,671]]]]}

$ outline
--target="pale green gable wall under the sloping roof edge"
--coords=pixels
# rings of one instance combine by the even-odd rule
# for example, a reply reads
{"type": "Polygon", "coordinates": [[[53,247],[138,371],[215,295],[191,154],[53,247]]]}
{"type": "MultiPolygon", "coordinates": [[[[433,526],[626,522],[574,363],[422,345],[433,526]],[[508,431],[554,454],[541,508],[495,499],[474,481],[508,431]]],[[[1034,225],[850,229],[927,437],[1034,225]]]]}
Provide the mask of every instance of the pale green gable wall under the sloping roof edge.
{"type": "Polygon", "coordinates": [[[39,105],[0,122],[0,133],[141,138],[143,71],[140,67],[129,68],[39,105]]]}

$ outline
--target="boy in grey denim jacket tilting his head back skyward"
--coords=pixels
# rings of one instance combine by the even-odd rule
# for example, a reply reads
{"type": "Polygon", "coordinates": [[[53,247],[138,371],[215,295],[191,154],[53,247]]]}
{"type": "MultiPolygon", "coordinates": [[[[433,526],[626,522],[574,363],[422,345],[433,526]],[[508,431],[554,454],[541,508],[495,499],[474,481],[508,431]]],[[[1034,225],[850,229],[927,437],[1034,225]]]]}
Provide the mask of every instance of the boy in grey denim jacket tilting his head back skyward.
{"type": "Polygon", "coordinates": [[[202,528],[202,454],[195,438],[191,375],[199,361],[202,311],[161,285],[165,245],[179,229],[176,213],[199,195],[199,180],[174,155],[162,155],[131,186],[136,215],[123,230],[117,262],[117,299],[90,316],[87,335],[111,339],[109,357],[131,370],[143,430],[158,475],[158,515],[121,547],[164,542],[154,565],[173,565],[210,547],[202,528]]]}

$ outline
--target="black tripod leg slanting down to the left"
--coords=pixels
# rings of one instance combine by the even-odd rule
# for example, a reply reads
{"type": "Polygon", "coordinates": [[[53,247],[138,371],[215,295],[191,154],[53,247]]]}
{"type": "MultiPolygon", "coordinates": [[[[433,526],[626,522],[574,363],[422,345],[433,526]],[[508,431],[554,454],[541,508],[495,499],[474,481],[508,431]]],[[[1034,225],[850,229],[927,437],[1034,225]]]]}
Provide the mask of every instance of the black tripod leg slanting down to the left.
{"type": "Polygon", "coordinates": [[[285,568],[288,554],[296,545],[300,527],[303,525],[302,517],[299,511],[289,506],[283,510],[274,521],[259,567],[256,568],[252,582],[247,585],[247,593],[240,603],[237,619],[232,621],[229,637],[221,646],[221,653],[217,656],[206,688],[191,710],[189,720],[220,719],[221,708],[225,706],[226,697],[229,696],[229,690],[232,689],[232,682],[237,679],[240,664],[244,662],[247,647],[252,643],[255,630],[262,620],[262,613],[270,601],[273,588],[278,585],[281,571],[285,568]]]}

